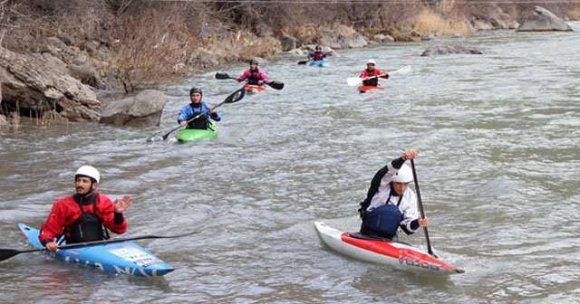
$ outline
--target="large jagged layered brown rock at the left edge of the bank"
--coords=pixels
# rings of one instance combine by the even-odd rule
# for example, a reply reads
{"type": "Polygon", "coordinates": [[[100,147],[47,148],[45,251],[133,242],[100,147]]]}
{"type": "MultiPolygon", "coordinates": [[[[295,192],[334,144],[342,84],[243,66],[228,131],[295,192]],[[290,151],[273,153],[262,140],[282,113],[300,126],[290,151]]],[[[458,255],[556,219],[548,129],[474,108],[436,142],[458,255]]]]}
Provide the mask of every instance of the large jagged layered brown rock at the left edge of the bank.
{"type": "Polygon", "coordinates": [[[98,121],[101,102],[81,81],[55,69],[43,56],[24,55],[0,47],[2,102],[20,113],[42,117],[54,110],[69,121],[98,121]]]}

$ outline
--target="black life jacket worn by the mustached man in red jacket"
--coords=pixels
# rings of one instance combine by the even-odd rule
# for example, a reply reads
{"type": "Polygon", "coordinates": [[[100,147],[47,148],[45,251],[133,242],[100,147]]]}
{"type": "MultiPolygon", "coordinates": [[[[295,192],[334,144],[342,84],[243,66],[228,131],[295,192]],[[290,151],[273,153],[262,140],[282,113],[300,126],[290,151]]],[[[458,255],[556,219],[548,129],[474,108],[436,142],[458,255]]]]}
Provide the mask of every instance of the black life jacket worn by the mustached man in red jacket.
{"type": "Polygon", "coordinates": [[[104,240],[102,219],[97,215],[97,195],[94,193],[85,197],[73,195],[73,199],[81,208],[81,217],[71,225],[71,235],[66,238],[66,243],[104,240]],[[92,204],[92,213],[84,212],[84,206],[90,204],[92,204]]]}

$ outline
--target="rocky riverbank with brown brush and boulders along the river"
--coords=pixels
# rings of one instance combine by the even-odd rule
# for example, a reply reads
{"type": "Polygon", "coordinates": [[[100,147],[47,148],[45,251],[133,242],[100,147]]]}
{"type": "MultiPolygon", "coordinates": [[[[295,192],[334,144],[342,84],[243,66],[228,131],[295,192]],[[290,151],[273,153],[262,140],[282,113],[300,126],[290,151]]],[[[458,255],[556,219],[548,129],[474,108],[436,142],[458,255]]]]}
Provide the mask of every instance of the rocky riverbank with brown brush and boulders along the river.
{"type": "MultiPolygon", "coordinates": [[[[284,12],[272,11],[274,8],[268,6],[242,10],[244,6],[218,5],[213,7],[214,14],[227,14],[236,19],[223,16],[211,19],[204,17],[211,15],[203,11],[208,7],[198,4],[163,6],[157,11],[160,7],[153,5],[135,11],[125,7],[116,18],[104,13],[90,14],[84,22],[92,28],[82,29],[82,33],[67,32],[64,26],[41,29],[38,33],[13,33],[4,29],[5,41],[0,47],[0,126],[18,121],[20,116],[50,119],[50,123],[100,121],[115,125],[159,125],[165,99],[159,92],[147,89],[157,89],[199,68],[247,61],[252,57],[275,58],[290,53],[304,58],[315,44],[344,49],[372,43],[437,39],[440,35],[469,35],[482,30],[569,30],[556,14],[541,7],[531,7],[527,14],[521,14],[513,7],[498,5],[468,10],[412,1],[410,4],[416,14],[397,15],[393,8],[383,6],[377,6],[375,11],[354,10],[353,13],[359,14],[357,18],[364,21],[358,24],[351,16],[339,14],[332,23],[321,25],[291,25],[290,21],[280,24],[282,21],[273,17],[284,16],[284,12]],[[382,13],[385,9],[389,14],[382,13]],[[188,15],[184,12],[198,13],[202,22],[191,24],[183,17],[188,15]],[[395,16],[400,20],[393,21],[395,16]],[[160,24],[158,20],[166,23],[160,24]],[[160,25],[150,24],[154,21],[160,25]],[[142,90],[146,91],[135,94],[142,90]],[[102,105],[107,96],[119,93],[128,96],[108,102],[106,107],[102,105]],[[143,104],[148,106],[142,107],[143,104]]],[[[301,12],[293,11],[292,6],[283,8],[286,13],[301,12]]]]}

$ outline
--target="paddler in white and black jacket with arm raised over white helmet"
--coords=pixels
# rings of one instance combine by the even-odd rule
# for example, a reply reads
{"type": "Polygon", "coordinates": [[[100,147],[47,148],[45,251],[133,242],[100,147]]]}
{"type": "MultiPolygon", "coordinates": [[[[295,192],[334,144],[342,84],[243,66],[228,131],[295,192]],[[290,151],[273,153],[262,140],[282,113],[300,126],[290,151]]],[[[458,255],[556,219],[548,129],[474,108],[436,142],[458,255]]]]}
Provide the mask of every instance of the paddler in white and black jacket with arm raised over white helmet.
{"type": "Polygon", "coordinates": [[[429,225],[427,217],[419,216],[417,196],[409,187],[413,181],[412,170],[404,164],[415,157],[417,151],[409,149],[372,177],[371,187],[359,209],[362,234],[396,240],[399,227],[411,234],[420,226],[429,225]]]}

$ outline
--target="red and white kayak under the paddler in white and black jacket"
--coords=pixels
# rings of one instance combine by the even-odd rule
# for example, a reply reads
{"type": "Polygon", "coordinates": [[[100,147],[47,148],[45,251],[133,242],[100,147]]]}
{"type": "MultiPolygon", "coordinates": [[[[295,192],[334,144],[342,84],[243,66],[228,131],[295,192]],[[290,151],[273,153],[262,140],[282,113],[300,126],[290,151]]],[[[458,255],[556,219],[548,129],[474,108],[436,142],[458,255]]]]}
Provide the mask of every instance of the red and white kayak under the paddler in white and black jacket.
{"type": "Polygon", "coordinates": [[[314,225],[326,245],[336,252],[358,260],[388,264],[404,271],[430,274],[465,272],[404,242],[372,240],[364,238],[359,233],[341,232],[322,222],[314,222],[314,225]]]}

